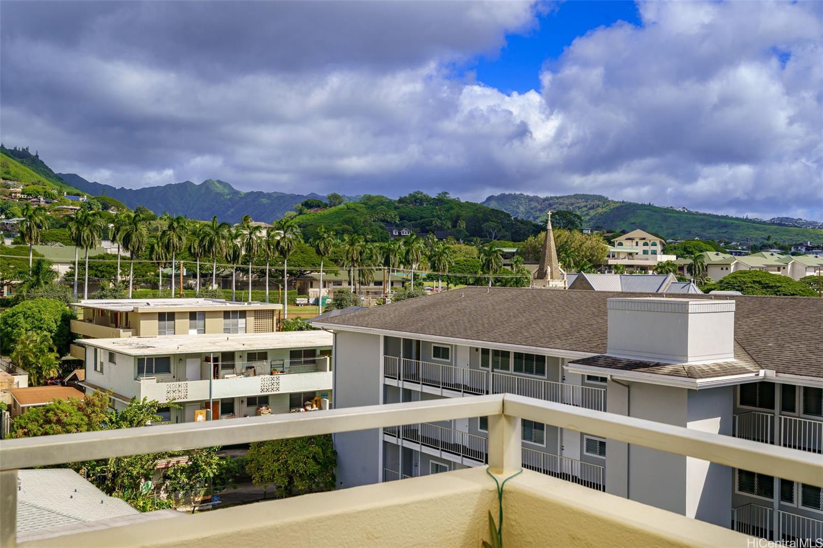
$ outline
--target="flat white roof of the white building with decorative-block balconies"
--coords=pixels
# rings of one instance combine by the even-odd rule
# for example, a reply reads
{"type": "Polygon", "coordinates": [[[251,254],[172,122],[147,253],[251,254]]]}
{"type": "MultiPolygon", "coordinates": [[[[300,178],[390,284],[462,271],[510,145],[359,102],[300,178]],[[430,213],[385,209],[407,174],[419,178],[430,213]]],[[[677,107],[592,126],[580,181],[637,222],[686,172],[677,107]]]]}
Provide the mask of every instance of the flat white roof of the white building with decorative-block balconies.
{"type": "Polygon", "coordinates": [[[332,346],[332,337],[332,333],[326,331],[286,331],[244,335],[165,335],[80,339],[76,342],[125,355],[168,355],[332,346]]]}

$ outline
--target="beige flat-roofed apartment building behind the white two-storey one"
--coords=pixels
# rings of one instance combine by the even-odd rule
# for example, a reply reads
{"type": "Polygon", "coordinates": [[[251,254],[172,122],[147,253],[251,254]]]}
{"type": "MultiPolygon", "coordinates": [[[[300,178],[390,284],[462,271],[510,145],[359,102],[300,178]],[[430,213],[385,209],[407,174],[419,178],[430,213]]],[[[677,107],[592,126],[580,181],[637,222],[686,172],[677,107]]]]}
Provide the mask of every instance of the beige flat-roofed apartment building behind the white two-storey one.
{"type": "MultiPolygon", "coordinates": [[[[277,331],[283,308],[220,299],[90,299],[72,306],[77,307],[77,319],[70,328],[78,339],[270,333],[277,331]]],[[[70,353],[86,359],[79,345],[72,345],[70,353]]]]}

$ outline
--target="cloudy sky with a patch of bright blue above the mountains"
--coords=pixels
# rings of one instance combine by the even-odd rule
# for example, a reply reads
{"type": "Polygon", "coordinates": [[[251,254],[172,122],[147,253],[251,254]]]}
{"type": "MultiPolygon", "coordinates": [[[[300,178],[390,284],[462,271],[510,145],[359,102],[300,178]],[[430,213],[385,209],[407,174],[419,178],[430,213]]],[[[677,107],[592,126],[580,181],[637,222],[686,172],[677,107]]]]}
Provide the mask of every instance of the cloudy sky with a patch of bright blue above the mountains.
{"type": "Polygon", "coordinates": [[[0,140],[131,188],[823,220],[823,2],[0,2],[0,140]]]}

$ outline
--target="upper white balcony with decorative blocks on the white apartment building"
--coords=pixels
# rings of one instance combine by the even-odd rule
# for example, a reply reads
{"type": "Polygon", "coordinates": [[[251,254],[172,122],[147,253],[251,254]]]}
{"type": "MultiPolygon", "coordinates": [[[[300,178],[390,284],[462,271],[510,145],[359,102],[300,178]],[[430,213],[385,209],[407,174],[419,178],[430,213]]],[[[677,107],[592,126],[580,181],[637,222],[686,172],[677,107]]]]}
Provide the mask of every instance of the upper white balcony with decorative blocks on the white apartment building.
{"type": "Polygon", "coordinates": [[[140,377],[136,384],[135,393],[141,398],[147,397],[160,403],[171,400],[202,402],[209,399],[210,394],[212,399],[217,400],[223,397],[331,390],[332,372],[328,368],[328,358],[321,356],[313,364],[299,365],[236,362],[231,369],[221,369],[221,378],[212,381],[206,379],[163,383],[158,382],[156,377],[140,377]],[[272,370],[280,373],[266,374],[272,370]]]}

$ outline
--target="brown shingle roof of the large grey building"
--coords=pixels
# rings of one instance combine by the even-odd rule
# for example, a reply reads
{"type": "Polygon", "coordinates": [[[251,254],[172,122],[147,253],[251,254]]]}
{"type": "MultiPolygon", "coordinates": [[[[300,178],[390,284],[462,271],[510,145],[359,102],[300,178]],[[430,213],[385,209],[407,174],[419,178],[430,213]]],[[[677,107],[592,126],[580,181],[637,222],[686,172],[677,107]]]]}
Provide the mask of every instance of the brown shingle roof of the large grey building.
{"type": "MultiPolygon", "coordinates": [[[[329,318],[328,327],[368,327],[421,336],[604,354],[606,301],[659,294],[465,287],[329,318]]],[[[718,299],[718,295],[689,295],[718,299]]],[[[735,357],[762,369],[823,378],[823,300],[724,295],[736,301],[735,357]],[[747,354],[738,355],[738,352],[747,354]]]]}

